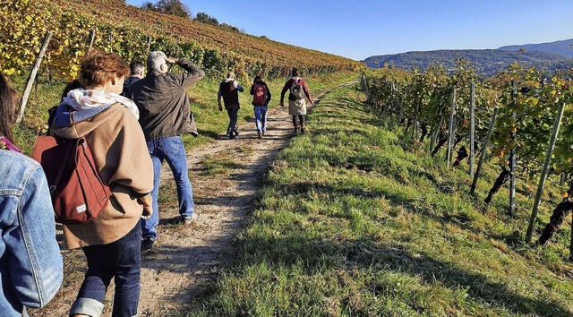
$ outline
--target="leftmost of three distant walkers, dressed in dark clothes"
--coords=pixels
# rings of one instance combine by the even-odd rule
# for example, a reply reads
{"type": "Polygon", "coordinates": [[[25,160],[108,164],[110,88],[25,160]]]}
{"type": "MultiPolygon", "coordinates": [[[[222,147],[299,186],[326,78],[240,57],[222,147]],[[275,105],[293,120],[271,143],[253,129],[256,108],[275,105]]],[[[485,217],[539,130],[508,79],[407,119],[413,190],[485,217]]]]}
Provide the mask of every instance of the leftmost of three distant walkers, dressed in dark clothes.
{"type": "Polygon", "coordinates": [[[235,136],[239,135],[239,127],[237,125],[237,116],[241,108],[239,106],[239,91],[243,92],[244,88],[235,81],[235,73],[232,72],[227,73],[227,79],[221,81],[218,85],[218,111],[223,111],[223,107],[221,106],[221,97],[223,97],[225,109],[227,109],[227,115],[229,116],[229,125],[227,126],[227,136],[229,139],[235,139],[235,136]]]}

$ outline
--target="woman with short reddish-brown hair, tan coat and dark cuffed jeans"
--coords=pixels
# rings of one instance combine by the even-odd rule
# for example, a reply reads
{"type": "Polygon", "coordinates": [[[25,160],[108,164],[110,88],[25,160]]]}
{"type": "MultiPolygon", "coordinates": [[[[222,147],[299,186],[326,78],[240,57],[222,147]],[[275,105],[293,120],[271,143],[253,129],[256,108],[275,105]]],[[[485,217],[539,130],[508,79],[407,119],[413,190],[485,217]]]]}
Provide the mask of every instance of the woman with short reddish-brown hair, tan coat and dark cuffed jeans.
{"type": "Polygon", "coordinates": [[[85,136],[102,182],[111,189],[97,218],[64,224],[68,249],[80,248],[88,270],[70,316],[99,316],[114,278],[112,316],[135,316],[140,297],[141,218],[149,217],[153,175],[139,110],[121,95],[129,67],[113,53],[91,51],[81,62],[85,90],[72,90],[49,124],[56,136],[85,136]]]}

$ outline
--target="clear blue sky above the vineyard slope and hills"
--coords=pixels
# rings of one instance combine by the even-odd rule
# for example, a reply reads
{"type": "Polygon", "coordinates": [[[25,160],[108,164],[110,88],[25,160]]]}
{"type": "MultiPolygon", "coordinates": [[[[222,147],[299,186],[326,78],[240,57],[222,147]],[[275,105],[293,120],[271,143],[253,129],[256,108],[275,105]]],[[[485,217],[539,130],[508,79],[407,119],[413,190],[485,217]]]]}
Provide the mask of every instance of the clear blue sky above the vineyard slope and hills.
{"type": "MultiPolygon", "coordinates": [[[[140,6],[145,0],[127,0],[140,6]]],[[[156,0],[150,0],[156,3],[156,0]]],[[[573,39],[573,0],[182,0],[245,33],[363,60],[573,39]]],[[[572,48],[573,49],[573,48],[572,48]]]]}

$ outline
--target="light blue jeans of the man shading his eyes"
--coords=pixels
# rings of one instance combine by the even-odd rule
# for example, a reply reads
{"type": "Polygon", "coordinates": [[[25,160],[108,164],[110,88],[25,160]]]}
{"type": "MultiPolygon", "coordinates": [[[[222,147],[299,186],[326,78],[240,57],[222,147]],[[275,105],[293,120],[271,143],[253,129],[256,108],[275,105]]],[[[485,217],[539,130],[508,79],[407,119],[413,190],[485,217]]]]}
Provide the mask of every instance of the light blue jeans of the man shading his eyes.
{"type": "Polygon", "coordinates": [[[175,177],[179,214],[184,217],[192,216],[195,205],[193,204],[193,191],[187,172],[187,153],[181,137],[176,135],[147,141],[147,149],[150,151],[151,161],[153,162],[153,191],[151,192],[153,213],[150,218],[141,219],[141,236],[157,239],[159,181],[161,180],[161,164],[164,159],[167,160],[167,164],[175,177]]]}

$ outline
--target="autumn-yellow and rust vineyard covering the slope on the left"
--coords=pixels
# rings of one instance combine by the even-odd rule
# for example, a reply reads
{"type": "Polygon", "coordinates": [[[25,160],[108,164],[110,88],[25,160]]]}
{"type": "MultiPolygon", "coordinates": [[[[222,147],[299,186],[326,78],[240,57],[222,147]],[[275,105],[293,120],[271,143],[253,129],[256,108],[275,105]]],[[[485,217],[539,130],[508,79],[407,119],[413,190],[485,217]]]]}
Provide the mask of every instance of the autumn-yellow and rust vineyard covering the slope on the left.
{"type": "Polygon", "coordinates": [[[81,5],[71,0],[8,0],[0,4],[0,28],[0,69],[9,75],[27,72],[47,31],[54,36],[43,70],[66,80],[75,76],[89,47],[126,60],[144,60],[150,50],[163,50],[191,58],[211,76],[233,70],[243,78],[277,78],[291,67],[307,74],[363,67],[344,57],[145,11],[120,0],[81,5]]]}

